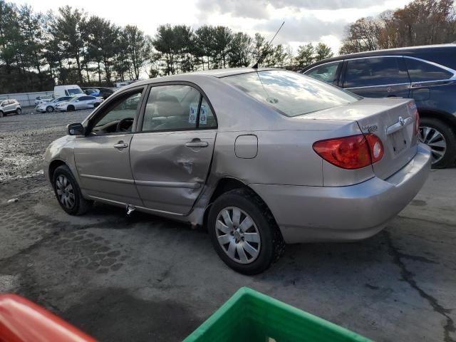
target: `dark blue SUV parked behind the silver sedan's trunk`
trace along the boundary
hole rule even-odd
[[[301,73],[366,98],[413,98],[433,167],[456,160],[456,44],[393,48],[319,61]]]

